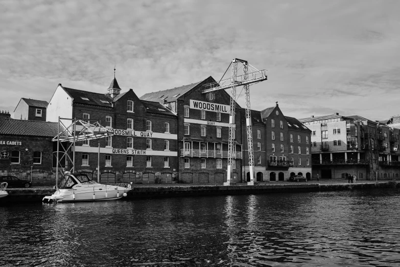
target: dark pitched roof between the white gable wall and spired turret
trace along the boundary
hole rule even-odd
[[[104,106],[104,107],[111,107],[111,102],[113,99],[110,97],[109,94],[99,94],[94,92],[82,91],[77,90],[74,88],[64,87],[65,92],[74,98],[75,103],[81,104],[88,104],[88,105],[97,105],[97,106]],[[85,100],[88,99],[88,100]],[[104,101],[104,102],[102,102]],[[106,103],[106,101],[108,103]]]

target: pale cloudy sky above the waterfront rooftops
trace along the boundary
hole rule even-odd
[[[50,101],[59,83],[107,93],[114,65],[140,97],[219,80],[240,58],[267,70],[252,109],[384,120],[400,114],[398,11],[397,0],[2,0],[0,110]]]

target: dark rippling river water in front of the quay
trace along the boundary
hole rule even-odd
[[[400,190],[0,206],[0,266],[399,266]]]

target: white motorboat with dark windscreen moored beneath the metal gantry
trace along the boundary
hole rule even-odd
[[[127,196],[131,184],[103,185],[85,173],[65,173],[57,191],[43,197],[43,202],[109,201]]]

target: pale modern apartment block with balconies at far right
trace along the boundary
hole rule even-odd
[[[361,116],[338,113],[301,119],[312,130],[313,176],[359,180],[398,179],[399,129]]]

